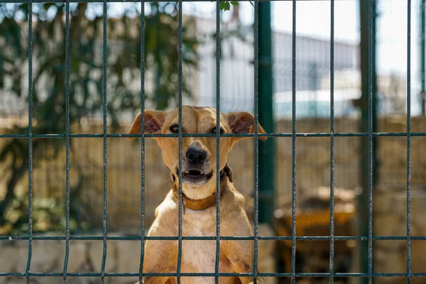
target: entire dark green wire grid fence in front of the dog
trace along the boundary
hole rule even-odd
[[[116,0],[114,0],[116,2]],[[144,13],[144,4],[146,1],[151,0],[130,0],[133,2],[141,3],[141,15]],[[165,1],[165,0],[160,0]],[[208,0],[197,0],[197,1],[208,1]],[[368,283],[372,283],[373,277],[406,277],[407,283],[411,283],[412,277],[426,277],[426,273],[412,273],[410,268],[410,243],[411,240],[426,240],[426,236],[411,236],[410,233],[410,189],[411,189],[411,153],[410,153],[410,141],[412,136],[426,136],[426,132],[417,132],[411,133],[410,125],[410,101],[411,101],[411,92],[410,92],[410,24],[411,24],[411,1],[408,1],[408,38],[407,38],[407,131],[400,133],[376,133],[373,132],[373,54],[372,48],[373,45],[373,9],[372,2],[374,0],[368,1],[368,132],[366,133],[334,133],[334,1],[330,1],[331,9],[331,48],[330,48],[330,70],[331,70],[331,80],[330,80],[330,132],[329,133],[297,133],[296,131],[296,7],[297,1],[302,0],[287,0],[293,1],[293,65],[292,65],[292,75],[293,75],[293,101],[292,101],[292,132],[291,133],[258,133],[258,53],[254,53],[254,118],[255,118],[255,130],[253,134],[186,134],[182,133],[182,0],[179,1],[179,42],[178,42],[178,53],[179,53],[179,132],[178,134],[145,134],[144,133],[144,116],[141,116],[141,135],[132,135],[132,134],[108,134],[107,133],[107,3],[112,2],[112,0],[66,0],[65,9],[66,9],[66,19],[65,19],[65,31],[66,31],[66,133],[65,134],[33,134],[33,60],[32,60],[32,43],[33,43],[33,34],[32,34],[32,9],[33,3],[44,2],[43,0],[28,0],[22,2],[21,0],[0,0],[0,3],[28,3],[28,134],[1,134],[0,138],[28,138],[28,202],[29,202],[29,233],[28,236],[0,236],[0,240],[28,240],[28,259],[26,265],[26,271],[22,273],[0,273],[0,277],[5,276],[19,276],[25,277],[26,283],[30,283],[32,276],[55,276],[62,277],[64,283],[67,283],[67,277],[84,277],[92,276],[99,277],[101,282],[104,283],[106,277],[119,276],[119,277],[138,277],[141,282],[143,276],[174,276],[177,277],[178,283],[180,283],[180,278],[183,276],[212,276],[215,278],[216,283],[219,281],[220,277],[230,277],[230,276],[249,276],[253,277],[253,283],[258,281],[258,277],[288,277],[291,278],[291,283],[295,283],[297,277],[329,277],[329,283],[334,283],[334,277],[358,277],[358,278],[367,278]],[[51,0],[50,2],[62,2],[61,0]],[[104,25],[103,25],[103,133],[99,134],[71,134],[70,133],[70,3],[74,2],[102,2],[103,3],[103,12],[104,12]],[[128,1],[126,1],[128,2]],[[259,1],[254,0],[254,50],[258,50],[258,5]],[[217,34],[219,35],[219,16],[220,16],[220,0],[216,1],[217,4]],[[144,71],[145,71],[145,62],[144,62],[144,21],[143,16],[141,16],[141,112],[145,111],[145,96],[144,96]],[[220,59],[219,59],[219,48],[220,48],[220,38],[219,36],[216,39],[217,44],[217,127],[219,127],[219,111],[220,111]],[[217,138],[217,191],[220,191],[219,186],[219,139],[221,137],[230,137],[230,136],[241,136],[241,137],[251,137],[254,143],[254,204],[255,204],[255,216],[254,216],[254,236],[244,236],[244,237],[224,237],[220,235],[220,212],[219,212],[219,197],[217,195],[217,234],[216,236],[182,236],[182,172],[179,171],[179,236],[178,237],[148,237],[145,236],[145,175],[144,175],[144,161],[145,161],[145,138],[148,137],[178,137],[179,139],[179,167],[181,167],[181,158],[182,158],[182,138],[183,137],[216,137]],[[293,209],[293,226],[292,226],[292,236],[258,236],[258,137],[291,137],[293,140],[293,180],[292,180],[292,209]],[[329,137],[331,152],[330,152],[330,178],[331,178],[331,187],[330,187],[330,234],[329,236],[296,236],[296,138],[297,137]],[[382,137],[382,136],[403,136],[407,137],[407,235],[406,236],[373,236],[373,224],[372,224],[372,209],[373,209],[373,138]],[[75,137],[87,137],[87,138],[102,138],[103,139],[103,234],[102,236],[70,236],[70,138]],[[141,236],[108,236],[107,232],[107,138],[122,138],[122,137],[141,137]],[[334,236],[334,138],[335,137],[368,137],[368,235],[367,236]],[[33,138],[65,138],[66,140],[66,231],[65,236],[33,236]],[[177,273],[143,273],[143,255],[144,255],[144,242],[147,239],[155,240],[177,240],[179,244],[179,254],[178,254],[178,268]],[[37,273],[31,272],[31,256],[33,252],[32,242],[33,240],[65,240],[65,259],[62,273]],[[102,268],[99,273],[68,273],[67,272],[67,263],[70,253],[70,241],[71,240],[89,240],[89,241],[100,241],[103,242],[103,255],[102,255]],[[135,273],[107,273],[105,272],[105,263],[107,257],[107,241],[108,240],[132,240],[141,242],[141,263],[140,269]],[[217,250],[216,250],[216,265],[214,273],[181,273],[180,272],[180,262],[182,258],[182,240],[216,240]],[[254,263],[253,263],[253,272],[252,273],[219,273],[219,250],[220,250],[220,241],[221,240],[253,240],[254,241]],[[291,261],[291,273],[258,273],[258,241],[259,240],[291,240],[292,241],[292,261]],[[315,240],[315,241],[329,241],[330,242],[330,258],[329,258],[329,273],[296,273],[295,272],[295,261],[296,261],[296,242],[303,240]],[[355,241],[367,241],[368,242],[368,272],[367,273],[334,273],[334,241],[339,240],[355,240]],[[405,240],[407,241],[407,272],[406,273],[373,273],[373,254],[372,254],[372,244],[375,240]]]

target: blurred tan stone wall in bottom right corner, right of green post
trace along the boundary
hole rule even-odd
[[[407,236],[407,192],[379,188],[373,197],[374,236]],[[411,190],[411,236],[426,236],[426,187]],[[407,241],[374,241],[373,267],[376,273],[407,273]],[[425,273],[426,241],[411,241],[411,271]],[[403,284],[400,278],[380,278],[376,283]],[[413,284],[425,283],[412,278]]]

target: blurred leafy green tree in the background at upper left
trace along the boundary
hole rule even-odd
[[[109,4],[110,5],[110,4]],[[109,9],[109,11],[115,9]],[[140,109],[141,18],[140,4],[107,20],[107,112],[111,126],[119,116]],[[173,3],[146,4],[145,70],[146,99],[150,107],[165,109],[178,98],[178,7]],[[186,20],[185,18],[182,20]],[[70,4],[70,124],[84,117],[102,114],[102,4]],[[192,22],[182,28],[182,93],[190,95],[186,67],[197,65],[197,40]],[[0,4],[0,89],[28,99],[28,4]],[[149,86],[149,75],[157,77]],[[33,4],[33,133],[65,133],[65,4]],[[13,126],[13,133],[28,133],[28,126]],[[65,147],[63,139],[34,139],[34,156],[41,145],[49,155],[34,159],[54,159]],[[7,165],[6,194],[0,199],[0,234],[28,229],[28,198],[16,194],[16,185],[28,175],[28,139],[13,138],[0,148],[0,163]],[[71,188],[71,216],[79,215],[78,192],[84,170],[78,170]],[[60,202],[53,201],[53,204]],[[55,213],[62,207],[50,206]],[[65,210],[65,209],[63,209]],[[52,215],[50,214],[50,215]],[[54,214],[53,214],[54,215]],[[44,215],[43,215],[44,216]],[[37,214],[34,215],[37,223]],[[53,222],[60,229],[64,220]],[[84,222],[77,223],[84,224]],[[73,223],[72,223],[73,224]],[[72,229],[82,229],[76,225]],[[35,226],[37,228],[37,226]]]

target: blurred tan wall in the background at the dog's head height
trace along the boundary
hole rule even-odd
[[[116,133],[126,133],[129,126],[123,126]],[[426,131],[426,120],[413,118],[413,131]],[[337,119],[335,132],[353,133],[359,131],[356,119]],[[303,119],[297,121],[296,130],[300,133],[327,133],[329,120]],[[276,132],[291,133],[291,121],[278,121]],[[403,117],[380,119],[378,131],[404,132],[406,121]],[[1,131],[0,132],[4,132]],[[89,129],[73,129],[72,133],[102,133],[102,126]],[[291,197],[292,182],[292,138],[274,138],[276,143],[275,185],[277,196]],[[335,186],[355,188],[360,186],[359,137],[336,137],[334,146]],[[65,142],[62,140],[62,142]],[[406,184],[406,138],[379,137],[378,180],[381,187],[401,187]],[[5,143],[2,139],[0,143]],[[296,187],[297,196],[312,189],[329,186],[330,182],[330,139],[329,137],[297,137],[296,139]],[[426,138],[412,138],[412,182],[413,186],[426,183]],[[0,145],[1,146],[1,145]],[[65,197],[65,151],[62,148],[58,158],[43,160],[49,148],[41,148],[34,158],[33,192],[35,199],[43,197]],[[168,169],[161,160],[160,149],[152,138],[146,139],[145,192],[147,226],[151,224],[155,207],[163,200],[170,189]],[[241,158],[244,157],[244,158]],[[90,227],[102,228],[102,165],[101,138],[71,139],[71,187],[77,185],[77,177],[84,178],[82,197],[76,205],[80,216],[87,217]],[[141,146],[140,139],[129,141],[126,138],[108,138],[108,226],[110,231],[140,230],[141,208]],[[239,142],[229,154],[229,163],[234,170],[236,187],[246,195],[253,193],[253,139]],[[7,166],[0,165],[1,167]],[[262,178],[260,176],[259,178]],[[6,179],[0,181],[0,199],[4,194]],[[26,195],[28,180],[21,181],[18,192]],[[43,228],[40,228],[43,229]]]

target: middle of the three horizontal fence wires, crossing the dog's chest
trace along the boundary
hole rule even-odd
[[[145,236],[146,240],[176,241],[178,236]],[[212,241],[216,236],[182,236],[182,240],[187,241]],[[220,240],[226,241],[253,241],[254,236],[219,236]],[[258,236],[263,241],[291,241],[292,236]],[[329,241],[330,236],[296,236],[297,241]],[[334,236],[335,241],[367,241],[367,236]],[[413,241],[426,241],[426,236],[411,236]],[[0,236],[0,241],[20,241],[28,240],[28,236]],[[33,240],[39,241],[65,241],[66,236],[33,236]],[[70,236],[70,240],[75,241],[102,241],[102,236]],[[140,241],[141,236],[108,236],[111,241]],[[407,241],[407,236],[373,236],[373,241]]]

